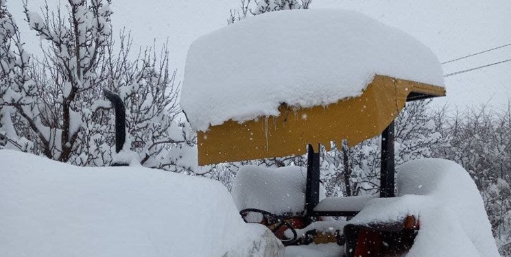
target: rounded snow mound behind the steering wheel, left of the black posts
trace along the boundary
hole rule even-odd
[[[233,182],[233,198],[238,210],[256,208],[275,215],[305,210],[307,167],[277,169],[243,166]],[[324,188],[320,186],[320,197]]]

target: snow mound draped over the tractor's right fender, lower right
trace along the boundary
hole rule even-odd
[[[399,167],[399,197],[373,199],[350,223],[420,219],[407,257],[499,256],[477,186],[455,162],[423,159]]]

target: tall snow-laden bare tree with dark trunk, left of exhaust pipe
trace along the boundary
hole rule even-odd
[[[83,110],[80,94],[91,90],[105,78],[102,73],[104,49],[110,38],[108,3],[99,0],[69,0],[70,14],[56,14],[45,5],[43,17],[30,12],[25,1],[25,14],[31,29],[45,40],[44,58],[36,69],[29,69],[29,57],[17,28],[11,36],[17,51],[18,65],[11,69],[21,75],[10,83],[16,98],[4,105],[12,106],[37,135],[40,150],[48,158],[67,162],[77,147]],[[3,71],[4,73],[8,71]],[[51,76],[51,84],[48,75]],[[40,78],[40,79],[36,79]]]

